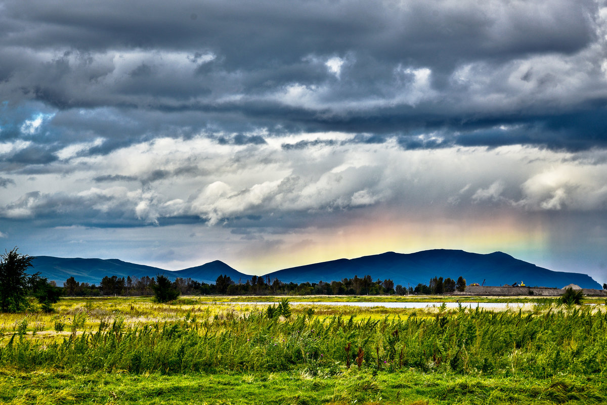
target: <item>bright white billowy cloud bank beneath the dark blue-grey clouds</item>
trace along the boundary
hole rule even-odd
[[[328,213],[339,218],[379,205],[396,211],[405,204],[423,211],[430,204],[466,209],[472,202],[470,207],[490,210],[498,203],[528,212],[600,211],[607,202],[604,152],[405,150],[395,139],[344,142],[352,138],[327,134],[333,144],[316,142],[298,149],[284,148],[291,136],[271,144],[222,144],[205,136],[154,139],[103,157],[80,156],[77,164],[86,172],[47,175],[64,191],[29,191],[10,201],[5,196],[0,215],[104,226],[190,223],[197,218],[210,226],[267,228],[285,218],[290,218],[290,227],[306,227]],[[477,170],[479,165],[485,169]],[[108,172],[117,174],[103,174]],[[83,176],[98,186],[87,186]],[[37,180],[29,187],[41,184]],[[250,218],[256,220],[251,223]]]

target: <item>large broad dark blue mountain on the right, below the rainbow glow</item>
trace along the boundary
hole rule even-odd
[[[520,283],[527,286],[558,287],[574,283],[583,288],[600,289],[599,283],[582,273],[554,272],[535,264],[515,259],[503,252],[487,255],[463,250],[435,249],[417,253],[387,252],[356,259],[338,259],[307,266],[291,267],[268,274],[283,283],[310,283],[341,281],[371,275],[375,279],[392,279],[394,284],[415,287],[428,284],[434,276],[457,279],[463,276],[467,283],[483,283],[486,286],[503,286]]]

